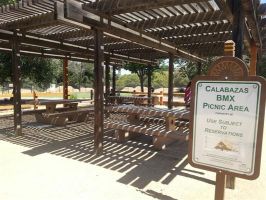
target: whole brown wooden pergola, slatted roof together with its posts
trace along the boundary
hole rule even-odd
[[[264,8],[258,0],[20,0],[0,7],[0,51],[12,53],[16,135],[22,134],[20,55],[64,59],[65,75],[67,60],[94,63],[95,150],[101,153],[104,62],[108,77],[109,65],[169,59],[171,108],[175,57],[201,63],[223,55],[224,42],[233,40],[236,56],[245,50],[256,74],[265,43],[258,10]]]

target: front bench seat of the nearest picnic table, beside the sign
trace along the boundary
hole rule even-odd
[[[157,150],[164,149],[167,144],[176,140],[188,140],[189,129],[168,131],[164,126],[154,125],[145,126],[144,124],[133,125],[127,122],[105,121],[105,128],[115,129],[115,137],[119,142],[123,142],[126,134],[130,137],[139,134],[150,135],[153,137],[153,145]]]

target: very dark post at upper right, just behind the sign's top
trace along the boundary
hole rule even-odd
[[[241,0],[228,1],[233,14],[233,32],[232,38],[235,42],[237,58],[242,59],[243,56],[243,41],[244,41],[244,28],[245,28],[245,16],[243,13],[243,7]]]

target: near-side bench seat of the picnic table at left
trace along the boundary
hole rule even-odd
[[[83,110],[72,110],[55,113],[43,113],[42,117],[46,123],[57,126],[65,126],[69,121],[85,122],[94,114],[94,108]]]

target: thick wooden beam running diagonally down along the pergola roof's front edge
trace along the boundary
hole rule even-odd
[[[167,53],[172,53],[175,56],[181,56],[183,58],[204,61],[203,59],[192,55],[184,50],[177,49],[176,46],[168,41],[156,38],[151,34],[144,33],[138,29],[134,29],[126,24],[121,24],[116,20],[86,11],[82,8],[82,4],[73,1],[66,1],[66,13],[64,4],[57,2],[57,14],[58,19],[68,22],[70,24],[80,24],[84,26],[86,24],[101,29],[105,34],[113,35],[114,37],[120,37],[122,40],[128,40],[136,42],[142,46],[157,49]],[[67,16],[67,18],[65,18]]]

